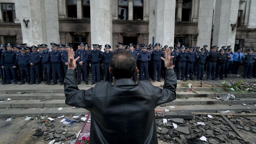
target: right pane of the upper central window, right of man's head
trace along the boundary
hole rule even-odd
[[[143,20],[143,0],[133,0],[133,20]]]

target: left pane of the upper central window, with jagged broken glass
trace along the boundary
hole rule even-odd
[[[128,0],[118,0],[118,19],[128,19]]]

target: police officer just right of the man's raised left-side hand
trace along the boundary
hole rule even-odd
[[[84,81],[88,85],[88,75],[87,75],[87,61],[89,60],[89,55],[86,50],[84,50],[84,43],[80,43],[80,50],[76,51],[75,58],[80,57],[77,60],[77,84],[81,84],[81,73],[83,73]]]

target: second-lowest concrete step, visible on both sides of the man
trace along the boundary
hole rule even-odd
[[[188,99],[177,98],[173,102],[163,104],[166,105],[235,105],[235,104],[253,104],[256,103],[255,98],[244,97],[235,100],[217,100],[209,97],[195,98],[191,97]],[[11,100],[1,101],[0,108],[48,108],[48,107],[71,107],[65,104],[65,99],[34,99],[34,100]]]

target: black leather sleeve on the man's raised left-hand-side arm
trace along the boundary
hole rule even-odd
[[[76,71],[68,69],[64,79],[65,103],[70,106],[91,110],[93,87],[88,90],[79,90],[76,84]]]

